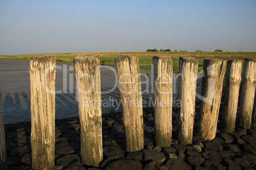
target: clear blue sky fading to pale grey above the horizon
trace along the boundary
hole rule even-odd
[[[1,0],[0,55],[256,51],[255,0]]]

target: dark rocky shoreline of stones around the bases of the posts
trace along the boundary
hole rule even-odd
[[[103,115],[104,159],[97,168],[81,163],[78,117],[56,120],[53,169],[256,169],[256,128],[237,128],[230,134],[217,130],[213,141],[195,133],[193,144],[182,146],[178,145],[177,112],[173,111],[171,147],[153,145],[153,108],[143,108],[145,147],[131,153],[124,151],[121,112]],[[4,128],[9,169],[31,169],[31,122]]]

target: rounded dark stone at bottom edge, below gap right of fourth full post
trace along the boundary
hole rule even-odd
[[[168,169],[170,170],[190,170],[191,167],[186,163],[184,162],[184,160],[182,159],[169,159],[167,162],[166,162],[166,166],[168,167]]]

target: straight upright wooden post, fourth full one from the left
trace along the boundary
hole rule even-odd
[[[173,60],[168,56],[153,57],[155,145],[171,147],[173,110]]]

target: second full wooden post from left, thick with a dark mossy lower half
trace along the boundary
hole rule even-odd
[[[82,163],[99,167],[103,160],[99,57],[76,56],[74,62],[81,124]]]

